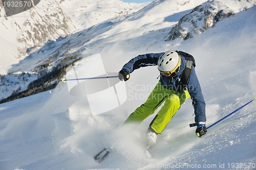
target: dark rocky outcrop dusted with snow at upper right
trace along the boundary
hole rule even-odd
[[[223,18],[234,15],[254,6],[256,1],[218,1],[211,0],[196,7],[192,12],[183,16],[173,27],[167,40],[181,38],[186,40],[214,27]]]

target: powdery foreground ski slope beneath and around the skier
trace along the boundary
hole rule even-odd
[[[113,44],[104,64],[117,72],[135,57],[131,54],[169,49],[192,54],[209,126],[256,97],[255,28],[254,6],[186,41],[156,40],[148,45],[148,39],[142,38],[145,46],[133,46],[128,32],[121,42],[126,45]],[[125,82],[127,101],[94,117],[87,100],[71,96],[62,82],[51,91],[1,104],[0,169],[255,169],[255,102],[198,138],[195,128],[189,128],[194,110],[191,100],[186,101],[158,135],[152,159],[147,159],[141,143],[155,115],[136,127],[120,126],[146,100],[158,75],[152,66],[134,71]],[[114,152],[98,164],[92,157],[105,145]]]

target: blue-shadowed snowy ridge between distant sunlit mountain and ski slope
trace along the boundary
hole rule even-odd
[[[8,69],[10,75],[3,76],[3,79],[9,79],[9,83],[5,85],[9,86],[1,88],[0,99],[5,99],[2,102],[6,102],[34,94],[42,89],[51,89],[56,86],[56,81],[63,76],[65,67],[72,62],[95,53],[114,53],[111,50],[115,49],[113,45],[120,45],[121,47],[125,45],[123,40],[125,43],[133,44],[133,46],[152,48],[157,41],[163,41],[166,32],[168,33],[183,15],[203,2],[205,0],[190,1],[189,3],[186,1],[156,1],[131,15],[123,16],[120,14],[119,17],[106,19],[70,36],[59,37],[56,41],[48,41],[44,45],[34,46],[29,49],[30,55],[28,57],[19,59],[17,64],[12,64],[12,67]],[[176,8],[162,10],[165,9],[165,6],[176,6]],[[177,11],[179,11],[178,14]],[[87,15],[82,20],[88,20]],[[91,20],[95,22],[93,19]],[[152,37],[154,38],[152,39]],[[148,44],[144,43],[145,41]],[[37,50],[38,48],[39,50]],[[135,54],[132,53],[131,55]],[[32,75],[26,82],[12,79],[13,76],[22,79],[23,76],[20,73]],[[28,89],[31,86],[34,88]],[[10,96],[10,94],[14,95]]]

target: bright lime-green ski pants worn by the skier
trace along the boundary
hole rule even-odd
[[[180,109],[180,106],[190,98],[187,90],[175,91],[164,88],[159,82],[148,96],[146,102],[138,107],[125,120],[126,123],[141,123],[145,118],[153,114],[165,101],[150,124],[150,128],[156,133],[162,133],[173,116]]]

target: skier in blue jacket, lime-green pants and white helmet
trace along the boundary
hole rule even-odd
[[[194,57],[181,51],[139,55],[122,67],[119,79],[127,81],[135,69],[150,65],[158,66],[160,81],[146,102],[131,113],[124,124],[141,123],[164,103],[146,133],[146,149],[150,150],[156,143],[157,135],[162,133],[180,106],[191,97],[197,125],[196,135],[201,137],[206,134],[205,101],[195,72]]]

